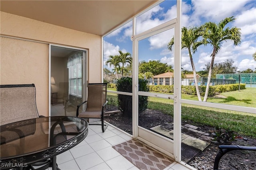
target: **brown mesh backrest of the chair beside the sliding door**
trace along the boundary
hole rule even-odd
[[[89,83],[86,111],[101,111],[107,99],[107,83]]]

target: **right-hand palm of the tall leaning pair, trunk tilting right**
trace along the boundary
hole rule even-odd
[[[233,22],[236,20],[234,16],[225,18],[224,20],[221,20],[220,23],[216,24],[213,22],[207,22],[205,23],[204,26],[204,31],[202,32],[202,41],[200,41],[196,45],[208,45],[210,44],[212,46],[212,60],[209,68],[209,73],[208,73],[208,80],[207,80],[207,85],[206,85],[206,90],[205,90],[205,95],[204,95],[204,102],[206,102],[207,97],[208,97],[208,92],[209,92],[209,86],[210,86],[210,80],[212,76],[212,68],[214,65],[214,59],[218,52],[220,51],[220,48],[222,47],[222,44],[224,41],[230,39],[234,42],[234,45],[239,45],[241,43],[241,32],[240,28],[237,27],[226,27],[226,25],[230,22]]]

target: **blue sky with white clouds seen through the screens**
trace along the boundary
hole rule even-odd
[[[230,27],[241,29],[241,44],[234,47],[232,41],[223,43],[214,63],[232,59],[238,70],[255,70],[256,61],[252,54],[256,52],[256,1],[255,0],[188,0],[182,1],[182,26],[198,26],[207,21],[219,23],[226,17],[237,18]],[[176,18],[176,0],[166,0],[145,12],[136,19],[136,33]],[[139,61],[160,60],[174,66],[173,52],[167,50],[167,44],[174,34],[170,29],[139,42]],[[132,53],[132,21],[104,37],[104,63],[109,55],[118,55],[118,50]],[[196,71],[203,70],[210,62],[212,47],[200,46],[193,54]],[[105,66],[107,67],[107,66]],[[108,67],[109,68],[109,67]],[[192,70],[188,50],[182,50],[182,68]],[[112,68],[109,68],[110,70]]]

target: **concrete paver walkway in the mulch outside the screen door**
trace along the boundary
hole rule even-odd
[[[181,127],[182,161],[184,162],[189,162],[194,156],[202,152],[213,139],[209,133],[198,131],[198,128],[190,124]],[[164,123],[152,127],[150,130],[173,140],[173,123]]]

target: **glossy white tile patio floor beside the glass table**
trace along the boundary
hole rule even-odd
[[[61,170],[138,170],[124,158],[113,145],[132,139],[128,134],[108,126],[102,133],[101,126],[89,125],[88,136],[76,147],[57,156]],[[174,162],[165,170],[189,170]]]

